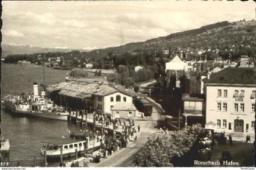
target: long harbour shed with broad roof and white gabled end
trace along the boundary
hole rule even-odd
[[[63,107],[112,113],[111,108],[115,104],[132,103],[135,91],[105,79],[68,79],[66,82],[48,85],[46,96]]]

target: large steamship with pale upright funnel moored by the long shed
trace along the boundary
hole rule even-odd
[[[66,121],[68,112],[65,112],[63,107],[55,105],[51,99],[46,98],[45,92],[42,90],[38,93],[38,84],[33,84],[33,94],[29,97],[25,95],[12,96],[7,95],[2,100],[2,104],[7,112],[15,116],[21,117],[39,117],[46,119],[55,119]]]

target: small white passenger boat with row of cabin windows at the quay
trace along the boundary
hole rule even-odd
[[[102,138],[101,138],[102,137]],[[46,155],[47,158],[60,158],[62,153],[63,158],[71,158],[77,154],[82,154],[88,151],[96,151],[104,143],[104,135],[97,136],[96,134],[91,134],[87,136],[85,140],[78,140],[67,143],[43,143],[43,148],[41,149],[41,155]]]

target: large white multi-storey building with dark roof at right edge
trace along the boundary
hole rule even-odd
[[[206,84],[206,124],[216,132],[254,133],[254,70],[226,68],[213,74]]]

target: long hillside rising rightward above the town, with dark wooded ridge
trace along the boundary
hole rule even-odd
[[[93,55],[97,53],[115,52],[123,54],[124,52],[134,52],[144,49],[162,50],[169,49],[174,51],[177,46],[180,48],[230,48],[233,45],[240,46],[241,44],[250,44],[256,46],[256,21],[238,21],[229,23],[222,21],[207,26],[202,26],[199,29],[186,30],[167,35],[166,37],[154,38],[144,42],[129,43],[123,46],[96,49],[89,52]]]

